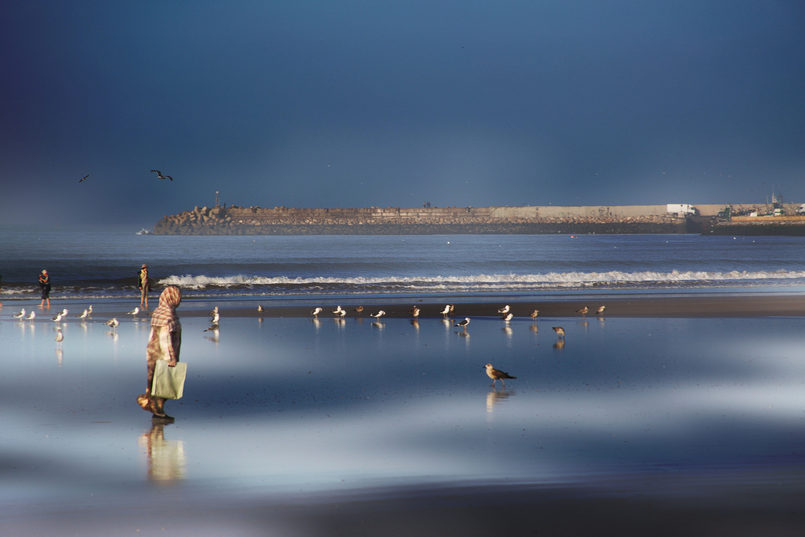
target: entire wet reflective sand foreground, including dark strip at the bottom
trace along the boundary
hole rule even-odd
[[[134,402],[147,321],[107,318],[0,323],[7,535],[805,527],[800,317],[188,315],[175,423]]]

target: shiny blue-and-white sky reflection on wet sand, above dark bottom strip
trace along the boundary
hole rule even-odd
[[[2,456],[30,463],[16,485],[54,493],[149,476],[313,490],[803,463],[799,319],[568,323],[560,353],[530,320],[506,333],[473,319],[467,335],[358,321],[226,318],[212,345],[206,319],[184,320],[185,397],[159,430],[134,403],[147,324],[111,339],[102,321],[63,323],[59,367],[52,329],[2,323]],[[518,379],[493,390],[489,362]]]

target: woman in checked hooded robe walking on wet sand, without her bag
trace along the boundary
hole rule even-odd
[[[165,414],[165,399],[151,395],[154,384],[154,370],[157,360],[167,361],[168,367],[175,367],[179,361],[179,350],[182,346],[182,324],[176,315],[176,307],[182,301],[182,290],[169,285],[159,295],[159,306],[151,316],[151,335],[148,337],[146,357],[148,361],[148,384],[146,393],[137,396],[137,403],[142,410],[150,411],[160,418],[170,418]]]

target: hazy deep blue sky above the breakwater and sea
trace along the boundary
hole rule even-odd
[[[216,190],[262,207],[715,204],[779,184],[805,202],[799,1],[0,14],[0,223],[152,225]]]

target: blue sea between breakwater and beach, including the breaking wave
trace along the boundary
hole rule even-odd
[[[5,300],[134,298],[142,262],[185,296],[533,294],[805,288],[805,238],[699,235],[187,237],[134,229],[4,229]],[[797,289],[799,287],[800,289]]]

